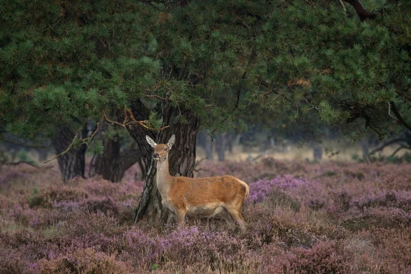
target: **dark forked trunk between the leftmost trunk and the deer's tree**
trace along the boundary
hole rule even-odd
[[[140,161],[141,155],[140,151],[134,148],[121,151],[119,138],[104,138],[101,133],[105,132],[107,127],[106,123],[100,126],[100,133],[97,138],[103,141],[104,152],[92,156],[88,177],[101,175],[103,179],[115,183],[123,179],[125,171],[130,166]],[[144,170],[142,172],[144,173]]]

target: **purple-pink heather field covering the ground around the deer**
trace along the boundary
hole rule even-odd
[[[142,192],[60,182],[56,166],[0,167],[0,273],[410,273],[411,165],[201,162],[247,182],[247,231],[224,221],[132,223]]]

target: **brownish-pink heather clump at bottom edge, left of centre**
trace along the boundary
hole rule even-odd
[[[107,273],[129,274],[132,269],[125,262],[116,260],[115,254],[106,254],[95,249],[75,249],[54,259],[39,261],[41,273]]]

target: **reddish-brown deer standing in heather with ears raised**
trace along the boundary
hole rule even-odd
[[[169,152],[175,142],[175,135],[166,144],[157,144],[146,135],[153,147],[156,161],[156,184],[162,198],[162,206],[175,217],[177,225],[184,225],[186,216],[219,217],[230,228],[236,223],[245,230],[241,207],[249,195],[249,186],[231,175],[220,177],[190,178],[171,176],[169,173]]]

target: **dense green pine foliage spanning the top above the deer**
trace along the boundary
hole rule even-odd
[[[352,16],[338,1],[190,1],[166,12],[3,0],[0,127],[47,135],[144,98],[158,129],[162,99],[146,97],[158,95],[209,129],[319,120],[384,135],[399,123],[389,102],[411,114],[411,4],[371,1],[384,16],[365,22],[345,4]]]

